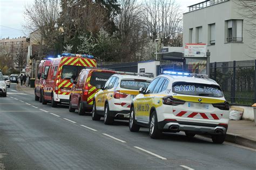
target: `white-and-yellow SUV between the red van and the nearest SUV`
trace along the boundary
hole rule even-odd
[[[151,81],[152,78],[139,75],[112,75],[93,98],[92,120],[104,116],[104,123],[112,124],[114,119],[129,119],[132,99],[139,94],[139,88],[146,88]]]

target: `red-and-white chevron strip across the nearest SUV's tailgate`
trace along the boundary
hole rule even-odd
[[[209,114],[209,113],[203,113],[203,112],[176,111],[176,110],[173,110],[173,115],[179,116],[179,117],[212,119],[212,120],[219,120],[223,116],[223,114],[214,114],[214,113]]]

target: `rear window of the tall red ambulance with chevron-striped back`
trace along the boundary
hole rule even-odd
[[[62,67],[62,74],[60,79],[71,79],[71,77],[75,80],[80,70],[84,69],[84,66],[70,66],[64,65]]]

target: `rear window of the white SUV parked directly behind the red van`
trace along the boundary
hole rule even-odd
[[[139,90],[141,87],[146,88],[147,85],[149,85],[150,82],[147,82],[145,80],[138,81],[138,80],[122,80],[120,87],[124,89],[130,89],[130,90]]]

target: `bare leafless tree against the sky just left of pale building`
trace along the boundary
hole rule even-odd
[[[175,0],[144,0],[144,22],[149,36],[161,39],[165,46],[181,33],[182,14]]]

